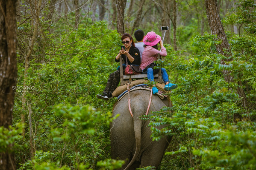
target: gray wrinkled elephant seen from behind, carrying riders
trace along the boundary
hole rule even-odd
[[[159,141],[152,141],[151,130],[147,126],[149,120],[140,119],[147,111],[150,99],[149,91],[132,91],[130,92],[130,99],[133,118],[129,113],[128,94],[113,108],[112,116],[117,114],[120,116],[113,120],[110,125],[112,159],[126,161],[121,170],[135,170],[138,167],[147,166],[158,168],[171,137],[165,136]],[[163,106],[168,106],[168,100],[166,98],[161,100],[153,94],[148,114],[151,111],[160,111]]]

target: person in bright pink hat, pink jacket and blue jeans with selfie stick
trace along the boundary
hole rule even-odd
[[[142,53],[141,59],[141,70],[143,71],[142,74],[147,74],[147,79],[150,81],[154,81],[154,74],[158,73],[159,69],[153,69],[156,64],[154,61],[157,60],[157,54],[159,53],[160,56],[167,56],[166,49],[162,43],[161,37],[157,35],[154,31],[148,32],[147,35],[143,39],[144,42],[144,51]],[[158,43],[162,48],[162,51],[158,50]],[[161,68],[162,78],[165,82],[165,90],[172,90],[177,88],[177,84],[172,84],[169,81],[168,74],[165,68]],[[156,86],[152,88],[153,94],[158,92]]]

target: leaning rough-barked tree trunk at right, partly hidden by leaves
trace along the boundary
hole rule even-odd
[[[218,51],[218,54],[224,55],[226,57],[229,57],[228,59],[222,59],[221,64],[226,65],[226,62],[232,61],[232,55],[230,50],[230,45],[227,41],[227,36],[225,34],[224,28],[221,23],[221,17],[219,15],[217,0],[205,0],[206,3],[206,14],[208,18],[209,27],[211,29],[211,33],[218,36],[218,39],[221,40],[221,44],[216,44],[216,49]],[[224,79],[227,82],[232,82],[233,77],[230,75],[231,71],[224,70]],[[238,80],[238,87],[237,87],[237,93],[241,97],[242,105],[245,110],[247,110],[247,99],[244,94],[244,90],[242,88],[241,81]],[[240,115],[234,115],[238,118],[241,117]]]

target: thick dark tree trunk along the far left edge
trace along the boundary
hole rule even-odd
[[[12,125],[17,79],[15,18],[16,0],[0,0],[0,127],[5,128]],[[1,170],[16,169],[12,146],[0,153]]]

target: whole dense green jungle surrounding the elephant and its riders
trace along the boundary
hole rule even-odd
[[[0,170],[120,168],[109,129],[117,99],[96,94],[119,65],[121,34],[163,37],[161,26],[170,28],[159,64],[178,87],[168,94],[172,107],[141,117],[150,119],[152,140],[172,136],[161,170],[256,170],[255,0],[0,2]],[[6,28],[16,27],[17,75],[7,100],[2,51],[10,43],[1,35],[12,11],[15,26]]]

